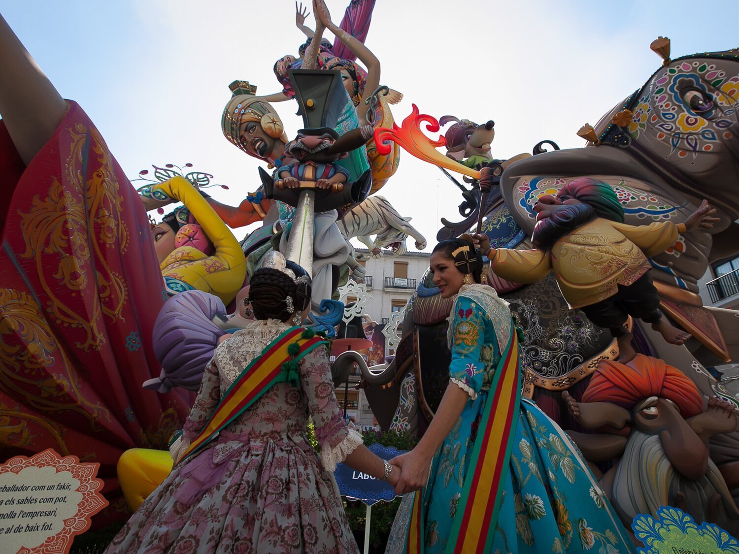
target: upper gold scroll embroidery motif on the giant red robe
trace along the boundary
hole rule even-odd
[[[96,161],[98,166],[88,168],[90,178],[84,182],[82,161],[88,132],[92,152],[89,163]],[[98,350],[105,343],[101,315],[111,321],[122,318],[128,294],[126,285],[108,267],[105,256],[106,250],[112,248],[125,253],[129,233],[120,220],[123,198],[118,194],[120,185],[102,137],[82,123],[75,124],[69,133],[72,145],[65,164],[67,188],[52,177],[48,196],[45,199],[34,196],[29,213],[19,214],[26,245],[20,257],[35,261],[41,287],[51,299],[45,308],[56,322],[72,329],[84,329],[84,338],[75,342],[75,346],[87,352],[90,348]],[[94,268],[90,266],[91,249],[95,252]],[[44,272],[50,263],[56,263],[56,271],[52,273],[55,282],[47,281],[49,273]],[[91,270],[95,275],[89,274]],[[97,285],[91,312],[74,312],[61,300],[64,295],[56,294],[59,285],[77,293],[88,287],[90,281]]]

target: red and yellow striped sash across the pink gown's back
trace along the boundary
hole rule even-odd
[[[205,446],[222,428],[259,400],[271,386],[287,380],[282,370],[283,363],[299,360],[316,346],[326,343],[324,338],[314,336],[312,333],[310,338],[304,338],[304,330],[302,327],[287,329],[241,372],[221,398],[205,428],[192,440],[180,463]],[[290,355],[287,347],[294,343],[299,344],[300,351],[296,355]]]

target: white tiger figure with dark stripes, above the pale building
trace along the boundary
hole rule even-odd
[[[375,195],[352,208],[336,223],[347,241],[356,237],[369,248],[373,257],[379,258],[382,256],[382,248],[392,250],[393,256],[406,253],[406,239],[409,235],[415,239],[418,250],[426,247],[426,239],[409,225],[410,220],[411,218],[404,218],[395,211],[384,196]],[[375,235],[374,240],[372,235]]]

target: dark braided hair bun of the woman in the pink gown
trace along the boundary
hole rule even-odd
[[[256,319],[287,321],[299,308],[297,295],[295,281],[286,273],[271,267],[256,270],[249,281],[249,301]],[[290,304],[293,304],[293,310],[287,309],[288,296],[292,298]]]

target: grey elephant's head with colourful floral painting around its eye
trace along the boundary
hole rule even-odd
[[[706,198],[739,218],[739,49],[668,60],[596,133],[693,204]]]

